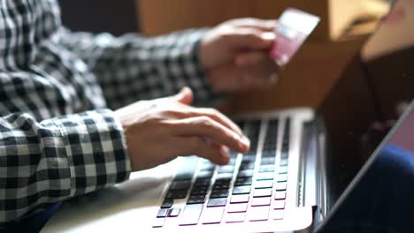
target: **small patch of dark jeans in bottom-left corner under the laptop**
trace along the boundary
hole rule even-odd
[[[46,210],[37,213],[27,219],[23,219],[19,222],[12,223],[5,229],[0,229],[0,233],[11,232],[11,233],[28,233],[28,232],[39,232],[42,227],[48,222],[52,214],[58,211],[61,203],[57,203]]]

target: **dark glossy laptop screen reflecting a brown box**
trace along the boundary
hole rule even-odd
[[[414,1],[395,3],[318,108],[328,139],[328,207],[414,98],[413,12]]]

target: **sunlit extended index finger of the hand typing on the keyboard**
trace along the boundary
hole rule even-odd
[[[165,123],[170,124],[173,136],[197,136],[203,139],[211,139],[214,143],[241,153],[245,153],[249,149],[249,139],[244,136],[241,137],[236,132],[229,130],[226,126],[219,124],[208,116],[170,120]]]

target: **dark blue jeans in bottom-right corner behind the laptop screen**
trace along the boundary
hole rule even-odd
[[[384,147],[320,232],[414,232],[414,154]]]

